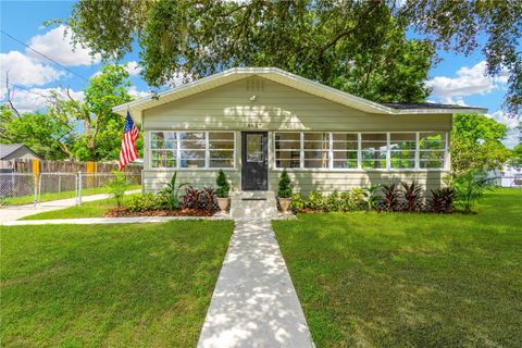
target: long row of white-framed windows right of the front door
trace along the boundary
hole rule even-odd
[[[283,167],[277,167],[277,159],[275,158],[275,134],[276,133],[299,133],[300,134],[300,165],[299,167],[287,167],[287,171],[291,172],[440,172],[450,170],[450,153],[449,153],[449,132],[448,130],[394,130],[394,132],[378,132],[378,130],[368,130],[368,132],[326,132],[326,130],[274,130],[272,148],[274,150],[274,157],[272,161],[273,171],[281,172]],[[328,149],[328,167],[304,167],[304,133],[330,133],[330,149]],[[391,167],[391,134],[397,133],[409,133],[415,135],[415,164],[414,167],[405,167],[405,169],[393,169]],[[445,149],[444,149],[444,159],[443,166],[440,167],[420,167],[421,163],[421,149],[420,149],[420,134],[421,133],[439,133],[445,136]],[[334,147],[333,147],[333,135],[334,134],[357,134],[358,147],[357,147],[357,169],[348,167],[334,167]],[[363,169],[362,167],[362,135],[363,134],[386,134],[386,167],[381,169]]]

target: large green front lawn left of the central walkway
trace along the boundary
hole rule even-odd
[[[2,347],[195,347],[232,231],[2,227]]]

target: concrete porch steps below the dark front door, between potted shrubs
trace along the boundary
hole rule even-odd
[[[231,197],[233,219],[259,219],[277,216],[277,202],[272,191],[239,191]]]

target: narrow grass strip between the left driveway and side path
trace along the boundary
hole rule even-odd
[[[127,202],[130,198],[138,196],[126,195],[123,198],[123,202]],[[38,214],[22,217],[20,220],[48,220],[48,219],[75,219],[75,217],[103,217],[103,214],[110,210],[116,208],[116,200],[114,198],[100,199],[90,202],[84,202],[82,206],[70,207],[60,210],[45,211]]]

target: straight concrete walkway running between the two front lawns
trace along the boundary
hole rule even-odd
[[[269,219],[236,221],[198,347],[313,347]]]

